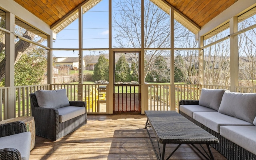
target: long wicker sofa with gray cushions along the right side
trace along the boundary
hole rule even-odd
[[[256,94],[202,89],[199,100],[181,100],[179,113],[219,139],[229,160],[256,160]]]

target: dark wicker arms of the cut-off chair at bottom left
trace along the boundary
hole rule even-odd
[[[6,124],[0,124],[0,137],[11,136],[26,132],[26,125],[24,122],[16,121]],[[0,149],[0,160],[21,160],[20,152],[16,148]]]

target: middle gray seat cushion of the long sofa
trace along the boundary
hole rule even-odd
[[[193,118],[217,133],[220,133],[220,126],[253,125],[252,123],[219,112],[194,112]]]

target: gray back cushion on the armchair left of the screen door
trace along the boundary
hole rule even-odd
[[[66,89],[38,90],[35,92],[38,106],[44,108],[60,108],[69,106]]]

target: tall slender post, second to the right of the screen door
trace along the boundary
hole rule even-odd
[[[171,110],[176,110],[175,106],[175,84],[174,84],[174,10],[170,9],[170,85],[171,85],[171,95],[170,95],[170,104]]]

